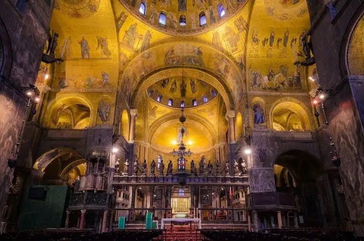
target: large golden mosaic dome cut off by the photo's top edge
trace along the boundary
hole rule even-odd
[[[216,0],[122,1],[130,13],[149,26],[168,34],[200,34],[225,23],[247,2]],[[239,23],[244,25],[247,23]]]

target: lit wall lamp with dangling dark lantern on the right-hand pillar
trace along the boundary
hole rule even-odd
[[[324,105],[323,105],[323,102],[327,98],[327,96],[329,95],[329,92],[330,92],[330,90],[324,90],[322,88],[318,88],[312,103],[313,103],[313,105],[315,107],[315,116],[317,118],[319,116],[319,113],[316,110],[316,105],[321,103],[322,113],[323,113],[323,117],[325,119],[325,124],[327,126],[328,135],[329,135],[329,141],[330,141],[329,145],[330,145],[330,148],[331,148],[330,153],[332,155],[331,162],[335,167],[339,167],[341,165],[341,158],[338,156],[337,149],[335,147],[335,144],[332,141],[332,135],[331,135],[330,127],[328,125],[329,123],[328,123],[325,108],[324,108]]]

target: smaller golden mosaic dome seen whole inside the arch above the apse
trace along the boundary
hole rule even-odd
[[[170,107],[195,107],[217,96],[218,91],[203,80],[173,76],[159,80],[147,88],[153,100]]]

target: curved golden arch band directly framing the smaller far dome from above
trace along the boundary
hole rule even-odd
[[[223,97],[224,102],[226,104],[226,108],[230,110],[235,110],[234,96],[230,91],[225,80],[210,70],[193,66],[162,67],[155,69],[154,71],[141,77],[132,92],[130,98],[130,108],[131,109],[136,108],[136,105],[139,102],[141,94],[143,94],[150,85],[163,78],[177,76],[177,75],[184,75],[186,77],[201,79],[206,83],[212,85],[219,91],[219,93]]]

